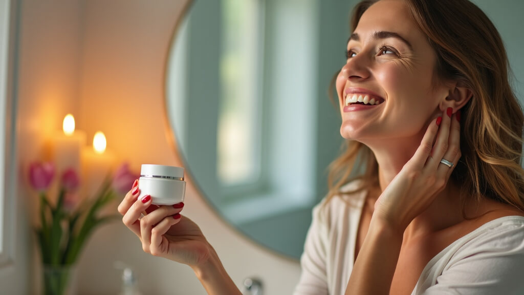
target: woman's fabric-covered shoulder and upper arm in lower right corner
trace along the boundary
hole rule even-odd
[[[462,286],[464,293],[476,294],[473,289],[482,286],[482,294],[514,294],[503,290],[520,284],[522,270],[524,217],[507,215],[489,220],[433,257],[413,294],[432,286],[433,291]]]

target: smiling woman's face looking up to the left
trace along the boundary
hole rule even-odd
[[[336,80],[342,136],[365,144],[422,136],[448,94],[432,84],[435,61],[402,0],[369,7],[348,41]],[[355,103],[359,96],[364,102]]]

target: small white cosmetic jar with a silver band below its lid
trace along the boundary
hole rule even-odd
[[[138,182],[142,199],[150,195],[152,204],[174,205],[184,201],[184,168],[165,165],[143,164]]]

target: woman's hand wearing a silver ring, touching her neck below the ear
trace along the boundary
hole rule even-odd
[[[373,218],[403,233],[446,187],[454,166],[440,161],[456,165],[461,157],[460,111],[452,111],[448,108],[429,125],[417,151],[377,199]]]

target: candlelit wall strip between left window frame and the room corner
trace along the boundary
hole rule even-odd
[[[5,294],[28,294],[38,287],[40,257],[34,250],[29,226],[37,203],[27,192],[26,168],[30,161],[45,159],[46,139],[61,129],[63,116],[78,115],[81,1],[19,1],[16,267],[13,276],[0,276]],[[2,274],[0,274],[2,275]],[[32,279],[35,279],[33,282]],[[38,289],[38,288],[36,288]]]

